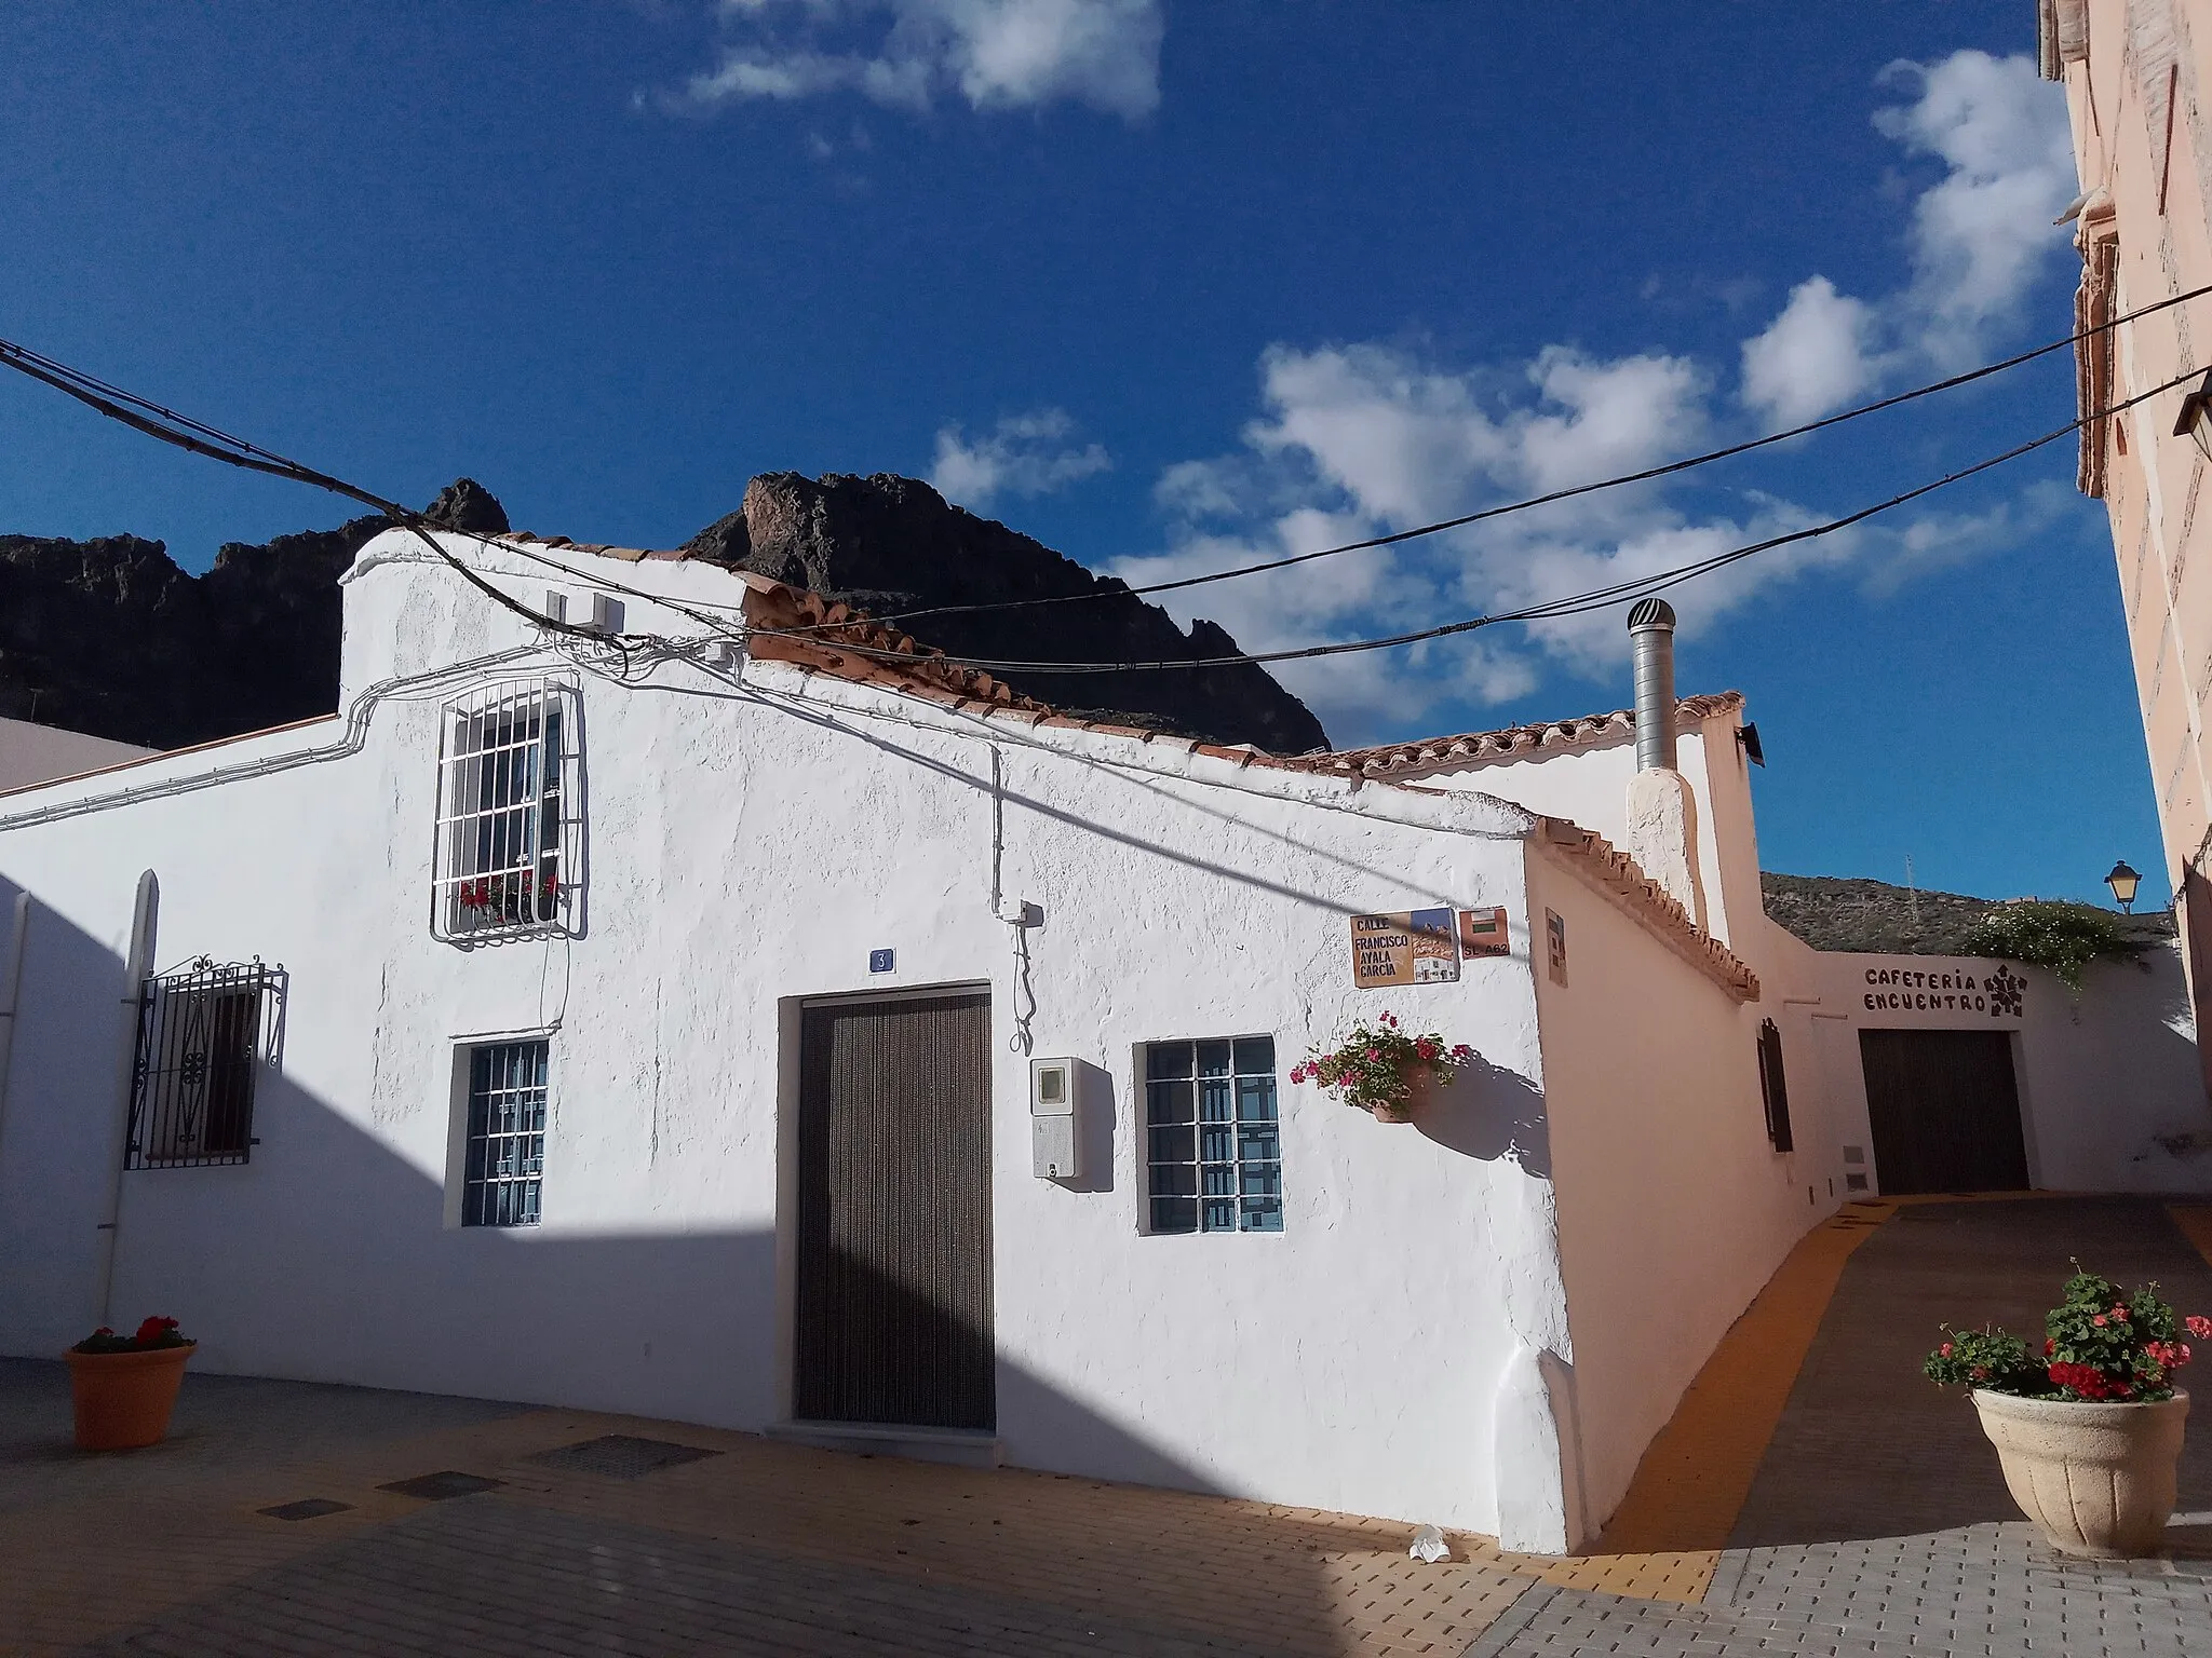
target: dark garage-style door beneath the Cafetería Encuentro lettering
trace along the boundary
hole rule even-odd
[[[1858,1054],[1885,1196],[2026,1189],[2011,1035],[1860,1030]]]

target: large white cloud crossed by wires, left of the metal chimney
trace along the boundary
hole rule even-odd
[[[1276,345],[1261,358],[1263,411],[1245,429],[1245,449],[1170,466],[1155,489],[1172,524],[1168,550],[1121,559],[1113,573],[1133,584],[1168,581],[1641,469],[1694,447],[1708,387],[1694,363],[1661,354],[1593,358],[1546,347],[1517,367],[1455,369],[1385,345]],[[1212,617],[1245,650],[1416,632],[1805,522],[1781,502],[1743,506],[1741,522],[1728,513],[1692,517],[1655,486],[1606,491],[1161,601],[1183,621]],[[1686,634],[1803,562],[1750,562],[1686,592]],[[1610,610],[1276,672],[1338,738],[1358,741],[1402,732],[1442,705],[1522,696],[1548,663],[1610,672],[1626,643],[1621,615]]]

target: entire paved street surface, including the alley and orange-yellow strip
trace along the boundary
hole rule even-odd
[[[2212,1309],[2154,1203],[1847,1211],[1579,1561],[1455,1536],[1431,1567],[1345,1514],[215,1375],[168,1444],[82,1457],[62,1368],[11,1360],[0,1649],[2212,1654],[2212,1433],[2168,1559],[2062,1563],[1916,1373],[1944,1315],[2033,1326],[2070,1253]]]

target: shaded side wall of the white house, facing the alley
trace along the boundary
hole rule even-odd
[[[1528,886],[1537,924],[1557,911],[1568,937],[1566,986],[1542,946],[1535,982],[1595,1534],[1721,1335],[1836,1203],[1818,1105],[1794,1112],[1796,1152],[1767,1143],[1756,1039],[1774,990],[1739,1004],[1681,968],[1555,853],[1531,847]]]

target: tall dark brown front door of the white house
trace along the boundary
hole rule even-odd
[[[991,999],[805,1008],[792,1415],[995,1428]]]

